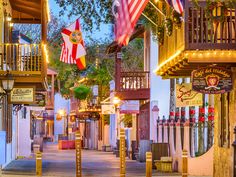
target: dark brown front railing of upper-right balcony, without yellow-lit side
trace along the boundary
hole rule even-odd
[[[185,3],[185,49],[236,48],[236,7],[225,11],[216,7],[207,15],[206,2],[199,1],[199,7],[189,0]]]

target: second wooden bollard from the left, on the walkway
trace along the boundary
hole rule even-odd
[[[75,153],[76,153],[76,177],[82,177],[81,169],[81,136],[77,131],[75,134]]]

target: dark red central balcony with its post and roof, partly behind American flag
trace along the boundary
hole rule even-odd
[[[144,33],[144,27],[138,25],[130,41],[135,38],[144,38]],[[116,56],[115,95],[121,100],[148,100],[150,98],[150,72],[140,71],[140,69],[123,71],[120,50],[120,46],[115,41],[107,49],[107,53],[115,53]]]

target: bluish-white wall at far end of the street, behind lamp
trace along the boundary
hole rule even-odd
[[[67,114],[70,113],[70,100],[64,99],[61,94],[56,93],[54,98],[54,135],[55,141],[58,140],[58,134],[64,133],[64,121],[65,119],[58,121],[56,120],[56,114],[60,109],[64,109]]]

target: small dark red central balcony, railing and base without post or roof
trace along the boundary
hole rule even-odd
[[[116,83],[116,96],[121,100],[149,99],[149,75],[148,71],[121,72],[120,79]]]

